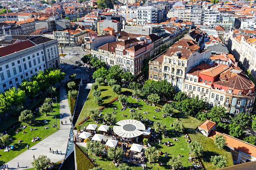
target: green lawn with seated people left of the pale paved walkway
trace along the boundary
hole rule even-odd
[[[59,99],[58,96],[60,96],[60,90],[57,91],[57,99]],[[57,131],[56,128],[52,128],[52,124],[56,123],[55,117],[58,118],[57,123],[60,121],[59,120],[59,113],[60,113],[59,104],[57,107],[56,101],[54,101],[54,104],[52,104],[52,109],[54,110],[54,112],[49,113],[50,116],[45,116],[45,114],[42,114],[36,111],[36,115],[34,118],[35,120],[39,120],[40,123],[28,123],[27,127],[24,130],[23,129],[20,130],[18,134],[15,133],[16,129],[18,129],[20,125],[23,125],[24,123],[18,123],[17,125],[15,125],[14,129],[8,130],[8,134],[12,138],[12,143],[10,143],[10,145],[14,145],[14,149],[10,150],[9,152],[4,152],[4,149],[0,150],[0,165],[8,162],[9,160],[15,158],[16,156],[18,156],[19,154],[27,150],[26,148],[27,144],[29,145],[29,147],[36,145],[39,141],[31,142],[33,137],[38,136],[40,138],[40,141],[42,141],[43,139],[45,139],[46,137],[48,137],[49,135]],[[32,112],[34,111],[35,110],[33,110]],[[44,123],[43,120],[48,121],[48,123]],[[48,126],[50,128],[44,129],[44,126]],[[30,131],[30,127],[32,128],[35,127],[36,130]],[[25,131],[26,135],[22,134],[22,131]],[[18,144],[19,139],[22,140],[20,144]]]

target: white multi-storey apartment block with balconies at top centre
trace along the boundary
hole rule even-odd
[[[158,10],[153,6],[141,6],[137,8],[137,25],[156,23]]]

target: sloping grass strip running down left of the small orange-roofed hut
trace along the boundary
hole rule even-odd
[[[197,141],[199,143],[202,143],[204,147],[204,152],[203,152],[204,155],[202,156],[202,161],[204,163],[204,166],[207,168],[207,170],[215,169],[213,166],[207,165],[207,164],[212,164],[212,162],[210,161],[210,158],[211,156],[214,156],[214,155],[225,156],[227,161],[227,166],[233,165],[232,154],[228,147],[225,147],[224,149],[218,149],[218,147],[214,145],[214,140],[195,131],[198,125],[202,123],[201,121],[189,115],[180,113],[178,111],[177,111],[177,114],[180,120],[182,121],[182,124],[184,125],[190,139],[192,141]]]

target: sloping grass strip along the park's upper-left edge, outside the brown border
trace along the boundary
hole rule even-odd
[[[112,87],[108,86],[107,84],[100,84],[98,90],[101,90],[101,96],[103,99],[103,104],[101,106],[97,106],[93,100],[94,97],[92,96],[92,92],[93,90],[90,91],[88,98],[85,102],[85,106],[83,107],[78,120],[76,121],[76,125],[78,125],[79,122],[81,122],[84,117],[86,117],[86,111],[90,110],[90,109],[100,109],[102,106],[104,106],[105,104],[108,104],[109,102],[111,102],[113,99],[115,99],[116,97],[118,97],[120,94],[116,94],[112,91]],[[132,90],[127,89],[127,88],[122,88],[121,93],[124,93],[126,91],[130,91],[132,92]]]

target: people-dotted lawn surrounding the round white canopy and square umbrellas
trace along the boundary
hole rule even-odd
[[[176,120],[177,117],[173,116],[173,117],[163,118],[162,117],[162,111],[160,111],[160,112],[155,112],[154,111],[156,108],[159,108],[159,107],[149,106],[149,105],[146,105],[145,102],[142,102],[142,100],[140,100],[140,101],[141,102],[137,102],[139,104],[139,107],[141,108],[140,111],[142,111],[142,113],[144,111],[145,112],[148,111],[148,115],[143,114],[144,118],[147,117],[148,119],[153,121],[154,120],[153,116],[156,115],[156,121],[162,121],[163,123],[166,124],[166,129],[167,129],[167,133],[168,133],[169,138],[159,137],[161,139],[161,145],[159,145],[158,142],[156,142],[156,143],[150,142],[150,144],[152,146],[155,146],[156,149],[162,150],[162,152],[167,152],[169,154],[167,158],[165,158],[164,155],[160,156],[159,161],[167,163],[172,155],[178,156],[178,154],[180,154],[180,155],[184,156],[182,158],[182,164],[185,167],[185,170],[190,169],[191,162],[188,161],[188,157],[189,157],[188,152],[189,152],[189,150],[187,149],[187,147],[188,147],[188,143],[186,142],[187,139],[185,139],[181,135],[177,135],[176,133],[173,133],[172,132],[173,127],[170,127],[170,124],[172,123],[172,121]],[[136,103],[136,100],[134,98],[131,98],[130,96],[128,96],[128,102]],[[105,112],[112,112],[114,107],[117,108],[116,114],[115,114],[116,115],[116,121],[120,121],[120,120],[123,120],[123,119],[131,119],[131,117],[129,115],[130,108],[126,109],[125,111],[120,111],[121,104],[119,102],[113,102],[112,105],[106,107],[106,109],[103,109],[102,115],[104,116]],[[136,109],[137,106],[131,106],[131,108],[134,108],[136,111],[138,111]],[[127,115],[127,117],[122,116],[123,113],[124,113],[124,115]],[[86,121],[85,123],[82,123],[81,125],[87,126],[88,123],[94,124],[94,122],[91,119],[89,119],[88,121]],[[102,122],[100,122],[100,123],[102,123]],[[148,122],[146,124],[147,125],[152,125],[152,124],[149,124]],[[174,137],[180,139],[180,141],[179,142],[173,142]],[[172,147],[167,147],[167,146],[163,145],[163,143],[167,142],[168,140],[173,143]],[[181,150],[181,149],[183,149],[183,150]],[[92,156],[92,157],[94,157],[94,156]],[[108,160],[108,158],[102,159],[102,158],[97,158],[96,157],[96,163],[99,164],[102,168],[112,169],[114,167],[114,165],[111,163],[111,160],[110,161],[107,161],[107,160]],[[159,168],[160,170],[169,168],[166,165],[158,166],[157,164],[158,164],[158,162],[156,162],[156,164],[151,164],[151,165],[147,163],[147,166],[152,167],[152,169]],[[137,168],[135,164],[130,164],[129,166],[132,166],[132,168],[135,169],[135,170],[142,168],[142,167]]]

